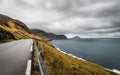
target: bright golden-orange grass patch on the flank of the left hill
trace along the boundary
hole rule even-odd
[[[5,26],[5,25],[0,25],[0,29],[3,29],[5,31],[8,31],[9,33],[11,33],[12,35],[14,35],[15,39],[25,39],[25,38],[36,38],[36,39],[40,39],[39,36],[37,35],[33,35],[31,33],[28,33],[27,31],[25,31],[23,28],[21,28],[20,26],[17,26],[14,24],[14,22],[12,20],[8,21],[7,24],[9,26]]]

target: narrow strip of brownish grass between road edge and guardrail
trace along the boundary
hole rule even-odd
[[[32,73],[31,75],[40,75],[39,64],[37,60],[35,45],[33,44]]]

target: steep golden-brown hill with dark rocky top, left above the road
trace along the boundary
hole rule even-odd
[[[39,36],[31,33],[29,28],[19,20],[0,14],[0,40],[36,38]]]

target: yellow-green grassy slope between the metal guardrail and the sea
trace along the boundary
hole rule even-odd
[[[118,75],[88,61],[78,60],[39,41],[43,58],[50,75]]]

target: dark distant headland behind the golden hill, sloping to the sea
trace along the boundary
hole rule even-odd
[[[37,34],[39,36],[45,36],[48,37],[50,39],[67,39],[67,37],[65,35],[56,35],[53,33],[47,33],[43,30],[39,30],[39,29],[31,29],[31,32],[34,34]]]

